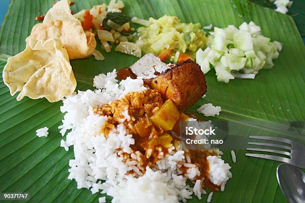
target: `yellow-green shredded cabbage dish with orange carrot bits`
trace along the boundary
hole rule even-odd
[[[138,34],[134,38],[143,54],[153,53],[162,61],[169,59],[176,63],[193,59],[196,51],[206,42],[200,23],[182,23],[176,16],[151,17],[147,23],[134,18],[132,21],[146,24],[137,29]]]

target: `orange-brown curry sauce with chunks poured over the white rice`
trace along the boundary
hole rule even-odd
[[[136,78],[129,68],[119,70],[117,75],[119,80],[124,80],[127,77]],[[122,112],[128,109],[131,119],[125,120],[124,125],[128,129],[128,133],[132,134],[135,139],[135,144],[130,147],[134,151],[140,152],[140,171],[143,174],[145,173],[146,166],[155,166],[158,160],[169,153],[169,148],[179,146],[179,121],[176,122],[172,130],[165,131],[160,126],[153,125],[150,120],[150,117],[162,104],[163,100],[158,91],[148,88],[144,92],[129,93],[125,98],[114,101],[111,104],[94,107],[95,113],[108,116],[107,124],[103,129],[106,136],[114,126],[120,123],[119,120],[124,118]],[[186,114],[194,117],[193,112],[187,111]],[[189,118],[186,114],[180,114],[180,121]],[[199,119],[198,116],[195,116],[195,118]],[[190,150],[186,153],[189,154],[191,163],[199,168],[200,176],[196,177],[196,179],[201,180],[202,187],[214,192],[220,191],[220,187],[212,184],[208,178],[209,164],[206,159],[209,155],[218,155],[217,152],[213,150]],[[123,153],[123,157],[126,162],[133,161],[127,153]],[[183,166],[183,164],[181,165],[179,171],[184,175],[188,168]],[[130,171],[130,173],[132,172]]]

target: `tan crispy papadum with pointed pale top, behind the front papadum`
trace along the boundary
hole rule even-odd
[[[81,59],[92,55],[96,41],[92,32],[85,32],[81,22],[70,10],[70,0],[61,0],[49,9],[42,23],[34,25],[30,36],[36,40],[58,37],[66,48],[69,59]]]

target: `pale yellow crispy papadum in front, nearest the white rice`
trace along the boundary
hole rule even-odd
[[[21,91],[17,101],[27,96],[57,102],[76,88],[68,53],[58,38],[28,38],[25,50],[7,59],[3,81],[12,96]]]

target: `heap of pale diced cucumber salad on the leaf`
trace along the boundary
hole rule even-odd
[[[282,50],[280,42],[271,42],[261,35],[261,28],[254,22],[214,28],[207,40],[207,48],[198,49],[196,62],[203,73],[212,68],[217,80],[228,83],[234,78],[254,79],[261,69],[270,69]]]

